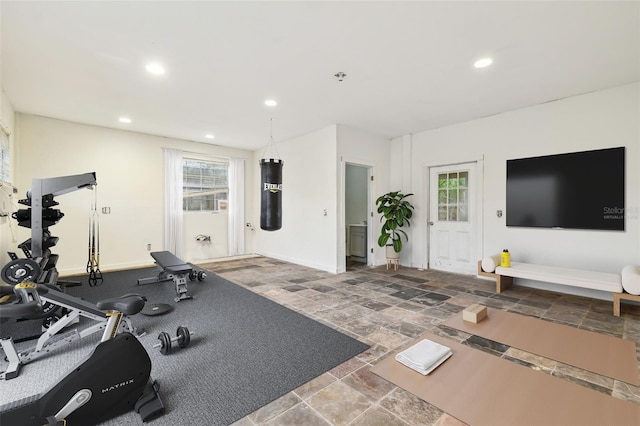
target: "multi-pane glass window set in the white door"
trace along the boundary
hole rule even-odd
[[[469,221],[469,172],[438,174],[438,220]]]

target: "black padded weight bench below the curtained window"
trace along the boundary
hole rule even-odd
[[[207,276],[204,271],[196,271],[193,265],[186,263],[170,251],[154,251],[151,257],[156,261],[160,272],[155,277],[140,278],[138,285],[173,281],[176,285],[176,297],[173,300],[176,302],[192,299],[192,296],[187,294],[187,278],[191,281],[196,278],[202,281]]]

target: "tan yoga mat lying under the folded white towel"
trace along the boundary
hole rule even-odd
[[[428,376],[395,360],[371,371],[473,426],[638,425],[640,405],[576,385],[453,340],[425,334],[453,355]]]

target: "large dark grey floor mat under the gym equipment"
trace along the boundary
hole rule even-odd
[[[167,408],[155,426],[231,424],[368,348],[213,273],[202,282],[188,282],[193,299],[179,303],[173,301],[171,281],[136,284],[154,273],[150,268],[105,273],[101,286],[85,284],[68,294],[95,302],[137,292],[149,303],[173,305],[166,315],[132,317],[147,332],[140,341],[151,356],[152,377],[160,383]],[[160,332],[174,336],[179,326],[194,332],[189,347],[176,347],[169,355],[152,348]],[[71,350],[26,365],[18,378],[0,383],[0,404],[41,392],[83,359],[98,338],[85,338]],[[127,360],[114,358],[111,368],[122,362]],[[105,424],[142,422],[131,412]]]

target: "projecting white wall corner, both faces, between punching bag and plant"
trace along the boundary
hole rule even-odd
[[[276,143],[284,160],[282,190],[282,229],[260,229],[260,194],[256,191],[256,252],[324,271],[346,270],[345,168],[347,163],[371,167],[368,207],[373,211],[376,194],[388,191],[389,141],[377,135],[343,125],[332,125],[316,132]],[[255,185],[260,187],[255,151]],[[324,216],[324,210],[327,216]],[[379,217],[373,219],[378,223]],[[373,231],[371,229],[373,228]],[[377,228],[368,227],[368,246],[375,247],[374,259],[384,263],[384,250],[377,247]]]

